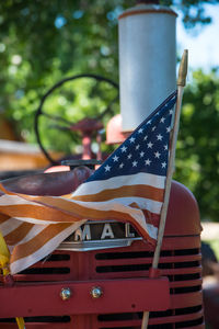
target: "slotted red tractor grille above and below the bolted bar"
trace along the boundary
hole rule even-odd
[[[173,248],[174,246],[174,248]],[[56,251],[16,275],[21,282],[130,279],[149,275],[153,252],[143,241],[130,247],[72,252]],[[205,328],[203,317],[200,240],[170,237],[163,241],[159,269],[170,281],[171,309],[151,311],[149,329]],[[146,296],[146,298],[151,296]],[[153,296],[159,298],[158,296]],[[26,328],[140,329],[142,313],[100,314],[26,318]],[[16,328],[12,319],[1,319],[0,328]]]

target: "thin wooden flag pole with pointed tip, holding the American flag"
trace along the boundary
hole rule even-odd
[[[165,194],[164,194],[163,206],[161,209],[161,219],[160,219],[160,225],[159,225],[158,241],[157,241],[155,251],[154,251],[154,256],[153,256],[152,269],[151,269],[152,271],[150,272],[151,273],[150,276],[153,276],[153,273],[155,273],[155,270],[158,269],[160,250],[161,250],[164,229],[165,229],[165,219],[166,219],[168,205],[169,205],[169,198],[170,198],[170,193],[171,193],[171,182],[172,182],[172,177],[173,177],[173,172],[174,172],[175,147],[176,147],[176,140],[177,140],[178,126],[180,126],[181,105],[182,105],[184,87],[186,84],[187,60],[188,60],[187,58],[188,58],[188,50],[185,49],[183,53],[180,69],[178,69],[177,100],[176,100],[176,106],[175,106],[174,126],[173,126],[173,132],[172,132],[170,159],[169,159],[169,167],[168,167],[168,173],[166,173]],[[149,321],[149,311],[143,311],[141,329],[148,328],[148,321]]]

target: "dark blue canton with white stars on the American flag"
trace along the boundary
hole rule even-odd
[[[175,102],[176,91],[158,106],[87,181],[138,172],[166,175]]]

